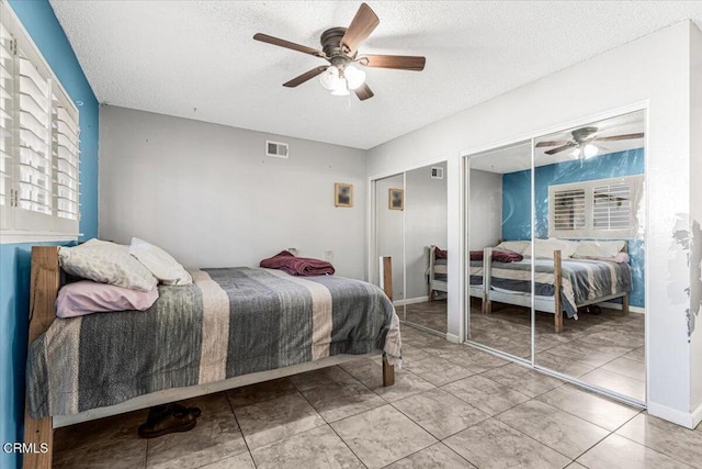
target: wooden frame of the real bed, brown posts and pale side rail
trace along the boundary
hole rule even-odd
[[[389,258],[388,258],[389,263]],[[392,271],[392,270],[390,270]],[[30,278],[30,316],[29,316],[29,345],[42,335],[56,319],[56,297],[63,284],[63,271],[58,263],[58,246],[33,246],[32,247],[32,271]],[[389,283],[392,288],[392,282]],[[387,293],[387,292],[386,292]],[[392,298],[392,290],[389,291]],[[24,410],[24,443],[34,444],[39,448],[41,444],[48,445],[47,453],[27,453],[24,455],[24,469],[50,469],[54,448],[54,428],[72,425],[80,422],[88,422],[110,415],[146,409],[152,405],[205,395],[227,389],[239,388],[257,382],[269,381],[271,379],[296,375],[304,371],[325,368],[344,361],[356,360],[366,355],[335,355],[321,360],[294,365],[269,371],[261,371],[240,377],[229,378],[223,381],[192,386],[188,388],[176,388],[158,391],[150,394],[140,395],[117,405],[92,409],[75,415],[32,418],[29,407]],[[387,362],[383,356],[383,386],[395,383],[395,367]]]

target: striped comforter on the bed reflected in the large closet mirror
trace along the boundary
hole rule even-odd
[[[531,259],[520,263],[491,263],[490,284],[503,290],[531,292]],[[553,297],[553,259],[536,259],[535,293],[540,297]],[[483,261],[471,261],[471,284],[483,283]],[[626,263],[590,259],[563,259],[561,292],[563,308],[568,317],[573,317],[578,305],[598,298],[623,293],[632,290],[632,271]]]

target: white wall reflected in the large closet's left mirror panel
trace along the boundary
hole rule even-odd
[[[468,186],[468,250],[483,250],[502,237],[502,175],[472,169]]]

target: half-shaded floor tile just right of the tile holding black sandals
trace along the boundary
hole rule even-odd
[[[237,407],[235,414],[251,450],[325,424],[299,393]]]

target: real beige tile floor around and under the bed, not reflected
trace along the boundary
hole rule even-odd
[[[194,399],[190,432],[150,440],[146,411],[59,428],[58,468],[702,468],[689,431],[475,348],[403,327],[380,357]]]

